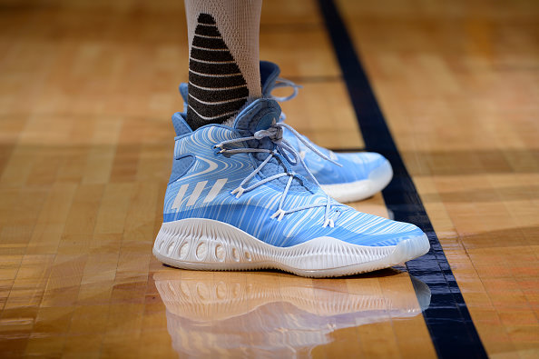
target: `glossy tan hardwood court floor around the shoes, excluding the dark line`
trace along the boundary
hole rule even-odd
[[[487,354],[537,357],[539,2],[337,4]],[[0,356],[436,356],[403,265],[312,280],[152,256],[181,0],[0,6]],[[265,0],[260,27],[260,57],[304,85],[289,124],[362,147],[317,2]]]

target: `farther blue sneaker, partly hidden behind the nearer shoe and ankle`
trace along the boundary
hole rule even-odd
[[[297,94],[298,85],[289,80],[279,78],[279,66],[268,61],[260,61],[260,78],[262,81],[262,95],[277,101],[288,101]],[[289,97],[275,97],[271,91],[278,87],[292,87],[293,95]],[[188,86],[180,85],[180,93],[184,104],[187,105]],[[184,107],[184,111],[187,108]],[[284,121],[284,115],[280,121]],[[310,173],[315,176],[320,186],[338,202],[347,203],[360,201],[384,189],[393,177],[393,170],[389,161],[383,156],[373,152],[334,153],[324,147],[315,145],[309,138],[302,138],[314,146],[319,152],[327,155],[339,165],[332,164],[315,154],[307,145],[288,129],[284,130],[283,137],[289,141],[299,153]],[[293,166],[299,175],[308,176],[301,165]]]

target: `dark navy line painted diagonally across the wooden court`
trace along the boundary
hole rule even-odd
[[[408,262],[407,269],[409,274],[425,282],[432,292],[431,304],[423,316],[436,353],[439,357],[486,357],[446,254],[389,133],[346,25],[332,0],[319,0],[319,7],[356,111],[366,149],[385,155],[393,166],[393,180],[382,192],[387,208],[393,211],[395,220],[416,224],[428,235],[430,252]]]

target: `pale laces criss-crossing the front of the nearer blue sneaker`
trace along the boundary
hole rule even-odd
[[[334,225],[335,225],[334,220],[337,219],[339,211],[335,210],[334,214],[330,216],[332,199],[331,199],[331,197],[329,197],[328,194],[326,194],[327,197],[326,197],[326,203],[325,204],[307,204],[307,205],[302,205],[302,206],[287,209],[287,210],[282,208],[282,206],[283,206],[283,204],[284,204],[284,202],[286,200],[287,194],[289,193],[289,188],[290,188],[290,185],[292,184],[292,180],[294,179],[294,177],[299,177],[299,179],[301,179],[302,178],[301,175],[298,175],[296,173],[289,172],[288,170],[286,170],[285,172],[282,172],[280,174],[271,175],[270,177],[266,177],[266,178],[260,180],[259,182],[255,183],[255,184],[251,184],[248,187],[244,187],[244,185],[247,184],[251,179],[253,179],[255,175],[260,173],[262,168],[264,168],[264,166],[267,165],[270,162],[271,158],[273,158],[273,157],[277,157],[277,158],[282,157],[282,158],[279,158],[280,161],[284,161],[284,159],[286,159],[286,161],[288,161],[289,164],[291,164],[291,165],[297,165],[298,161],[299,161],[301,163],[301,165],[303,165],[305,167],[305,169],[307,170],[309,175],[312,177],[312,179],[314,179],[314,181],[317,184],[319,184],[318,181],[316,180],[316,178],[314,177],[314,175],[312,175],[310,173],[307,166],[305,166],[305,164],[303,164],[303,160],[301,159],[301,156],[298,154],[298,152],[292,147],[292,145],[289,144],[289,142],[287,140],[282,138],[283,127],[287,128],[292,134],[294,134],[296,137],[298,137],[299,141],[301,141],[304,145],[309,147],[309,149],[311,151],[313,151],[315,154],[319,155],[321,158],[323,158],[323,159],[325,159],[325,160],[327,160],[327,161],[329,161],[331,163],[334,163],[334,164],[338,165],[333,160],[331,160],[327,155],[322,154],[321,152],[319,152],[318,149],[316,149],[312,145],[310,145],[309,142],[307,142],[303,138],[302,135],[299,135],[299,133],[296,130],[294,130],[290,125],[286,125],[286,124],[283,124],[283,123],[276,123],[274,121],[273,124],[271,124],[271,126],[267,130],[257,131],[252,136],[241,137],[241,138],[237,138],[237,139],[234,139],[234,140],[222,141],[219,145],[214,145],[215,149],[220,148],[219,153],[223,154],[223,155],[234,155],[234,154],[244,154],[244,153],[267,153],[268,154],[266,159],[264,161],[262,161],[260,163],[260,165],[253,172],[250,173],[250,175],[245,177],[245,179],[243,181],[241,181],[238,188],[234,189],[231,192],[231,194],[236,194],[236,198],[240,198],[240,196],[242,194],[244,194],[246,192],[249,192],[249,191],[252,191],[253,189],[259,187],[262,184],[266,184],[266,183],[268,183],[270,181],[273,181],[274,179],[277,179],[277,178],[280,178],[280,177],[288,176],[289,179],[287,181],[287,184],[285,185],[283,193],[280,196],[279,207],[278,207],[277,211],[274,214],[271,214],[271,218],[277,218],[278,221],[281,221],[285,214],[291,214],[291,213],[295,213],[295,212],[298,212],[298,211],[307,210],[307,209],[310,209],[310,208],[325,206],[326,207],[326,212],[324,214],[324,224],[322,226],[327,227],[329,225],[329,227],[334,227]],[[249,148],[249,147],[248,148],[233,148],[233,149],[230,149],[230,148],[225,147],[226,145],[232,145],[232,144],[237,144],[237,143],[241,143],[241,142],[246,143],[247,141],[251,141],[251,140],[260,140],[260,139],[262,139],[264,137],[270,138],[271,142],[273,144],[275,144],[275,149],[270,150],[270,149],[266,149],[266,148]],[[294,158],[291,158],[288,154],[291,154]]]

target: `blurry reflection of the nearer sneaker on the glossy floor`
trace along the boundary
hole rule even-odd
[[[410,279],[416,291],[404,276],[350,278],[341,291],[328,280],[266,273],[153,275],[174,349],[205,357],[245,348],[256,356],[309,354],[338,329],[414,317],[430,304],[430,290]]]

